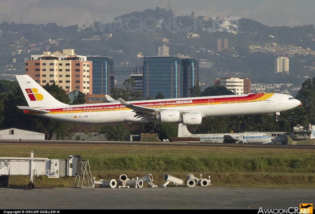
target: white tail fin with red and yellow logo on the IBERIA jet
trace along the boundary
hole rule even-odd
[[[19,82],[27,104],[31,108],[47,108],[68,105],[56,100],[28,75],[17,75],[15,77]]]

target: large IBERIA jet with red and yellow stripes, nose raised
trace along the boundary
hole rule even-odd
[[[106,96],[111,103],[68,105],[61,103],[28,75],[15,76],[29,106],[17,106],[24,113],[72,123],[103,124],[122,122],[148,123],[145,129],[160,131],[159,122],[199,125],[203,117],[259,115],[276,113],[300,105],[286,94],[238,94],[126,102]]]

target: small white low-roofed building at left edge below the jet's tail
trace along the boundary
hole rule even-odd
[[[35,132],[35,131],[26,131],[22,129],[4,129],[0,130],[0,139],[1,140],[45,140],[45,134]]]

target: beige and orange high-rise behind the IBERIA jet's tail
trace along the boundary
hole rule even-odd
[[[25,61],[25,74],[40,85],[56,83],[66,92],[77,89],[92,94],[93,91],[92,62],[86,56],[76,55],[74,49],[31,55],[31,60]]]

